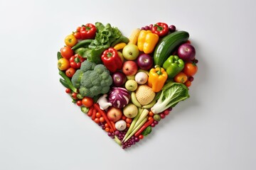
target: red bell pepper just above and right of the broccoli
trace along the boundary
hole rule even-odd
[[[118,69],[122,69],[121,57],[119,57],[117,50],[113,47],[103,52],[101,60],[110,72],[116,72]]]

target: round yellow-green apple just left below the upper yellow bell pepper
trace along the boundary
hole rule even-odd
[[[122,50],[122,55],[125,60],[136,60],[139,56],[139,48],[134,44],[125,45]]]

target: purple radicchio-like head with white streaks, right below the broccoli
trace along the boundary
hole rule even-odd
[[[112,87],[108,96],[109,102],[112,103],[112,106],[115,108],[124,108],[124,106],[127,106],[129,103],[130,98],[129,91],[122,87]]]

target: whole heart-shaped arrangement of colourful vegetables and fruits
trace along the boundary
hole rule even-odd
[[[198,60],[188,38],[166,23],[137,28],[129,38],[110,23],[87,23],[58,52],[60,83],[126,149],[189,97]]]

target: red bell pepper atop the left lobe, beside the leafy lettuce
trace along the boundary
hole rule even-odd
[[[95,38],[97,28],[92,23],[87,23],[80,28],[80,35],[82,40]]]

